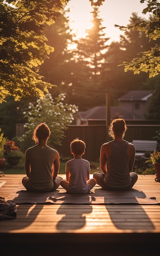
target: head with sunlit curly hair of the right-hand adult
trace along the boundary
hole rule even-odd
[[[113,132],[114,130],[114,132]],[[125,120],[122,118],[114,119],[112,120],[110,127],[109,127],[109,132],[108,134],[110,137],[114,138],[114,133],[116,135],[121,135],[123,134],[123,137],[125,136],[125,131],[127,130],[127,126],[125,123]]]

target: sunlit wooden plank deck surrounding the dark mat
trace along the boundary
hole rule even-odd
[[[64,177],[64,175],[61,175]],[[24,175],[5,175],[5,199]],[[134,189],[160,201],[155,175]],[[15,220],[0,220],[0,255],[160,255],[160,205],[20,204]]]

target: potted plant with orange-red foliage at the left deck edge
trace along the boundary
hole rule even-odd
[[[15,146],[15,142],[7,140],[4,144],[4,156],[7,157],[9,164],[16,165],[20,162],[20,158],[23,153],[20,151],[18,146]]]

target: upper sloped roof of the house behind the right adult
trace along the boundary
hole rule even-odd
[[[118,101],[147,101],[152,96],[151,90],[136,90],[127,92]]]

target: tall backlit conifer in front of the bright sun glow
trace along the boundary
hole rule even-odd
[[[85,38],[77,40],[70,86],[70,101],[76,103],[79,110],[105,105],[105,93],[101,93],[102,71],[105,66],[106,42],[110,38],[105,36],[103,20],[99,17],[99,6],[103,0],[90,0],[90,2],[93,7],[91,20],[93,27],[86,30]]]

